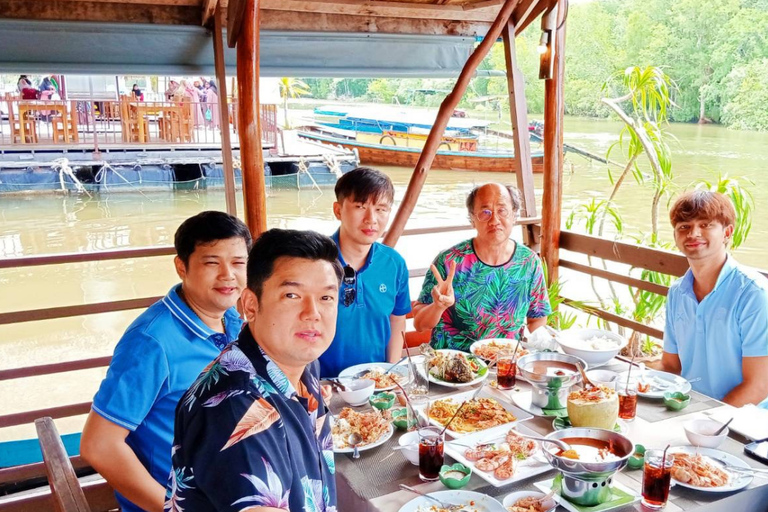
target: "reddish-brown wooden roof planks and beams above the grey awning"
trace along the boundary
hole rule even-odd
[[[244,0],[0,0],[0,18],[208,26],[218,5],[234,41]],[[260,0],[261,29],[481,36],[503,0]],[[522,30],[554,0],[519,0]]]

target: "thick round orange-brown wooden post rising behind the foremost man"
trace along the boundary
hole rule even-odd
[[[238,136],[245,223],[256,238],[267,229],[259,105],[259,4],[258,0],[244,0],[244,4],[242,28],[237,39]]]

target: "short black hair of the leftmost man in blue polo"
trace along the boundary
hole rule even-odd
[[[198,245],[207,245],[229,238],[242,238],[248,250],[253,245],[251,232],[243,221],[228,213],[206,211],[181,223],[173,238],[173,245],[176,248],[176,255],[186,266]]]

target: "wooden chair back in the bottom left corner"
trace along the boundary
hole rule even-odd
[[[51,488],[51,501],[56,512],[105,512],[118,508],[112,487],[103,479],[81,486],[72,461],[67,456],[61,436],[50,417],[35,420],[43,463]],[[86,496],[88,497],[86,499]],[[35,510],[46,510],[38,507]]]

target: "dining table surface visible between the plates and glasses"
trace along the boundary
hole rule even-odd
[[[602,369],[623,372],[627,370],[628,366],[627,361],[617,358],[602,366]],[[488,378],[493,379],[492,376]],[[513,404],[529,403],[532,394],[530,384],[520,378],[517,379],[515,387],[511,390],[503,391],[488,385],[485,388],[497,400]],[[435,400],[463,391],[467,391],[467,388],[455,389],[430,383],[429,395],[430,400]],[[636,417],[633,421],[624,423],[624,434],[633,443],[642,444],[647,449],[663,449],[667,445],[688,445],[690,443],[683,430],[685,422],[697,418],[709,418],[710,415],[714,414],[727,416],[729,410],[736,410],[730,405],[696,391],[690,391],[689,394],[691,395],[691,402],[681,411],[668,410],[663,401],[659,399],[638,397]],[[345,406],[347,405],[334,393],[330,402],[331,411],[338,413]],[[370,407],[354,409],[365,410],[370,409]],[[543,436],[553,431],[553,420],[554,418],[549,416],[534,416],[519,422],[517,430],[523,434]],[[393,450],[398,446],[398,438],[402,434],[402,431],[395,430],[394,435],[381,446],[361,451],[359,459],[353,459],[348,454],[336,454],[336,486],[340,512],[398,512],[406,503],[416,498],[412,492],[400,489],[401,484],[414,487],[424,493],[447,490],[440,481],[422,482],[419,479],[418,466],[412,465],[406,460],[402,452]],[[450,440],[451,438],[447,436],[446,442]],[[740,458],[753,468],[768,469],[768,466],[744,454],[745,443],[749,441],[749,439],[732,431],[719,447],[719,450]],[[453,459],[446,455],[445,463],[453,464],[453,462]],[[473,473],[469,483],[462,490],[486,494],[501,502],[506,495],[512,492],[539,491],[540,489],[534,484],[552,480],[557,474],[555,469],[549,469],[525,480],[494,487]],[[632,491],[639,497],[642,475],[641,469],[631,470],[629,467],[625,467],[614,475],[613,481],[614,484],[618,482],[623,488]],[[564,511],[566,508],[560,505],[557,510]],[[594,507],[581,510],[597,512],[604,509]],[[648,509],[644,508],[638,500],[610,510],[622,512]],[[664,510],[666,512],[679,510],[701,512],[768,510],[768,479],[756,475],[747,487],[730,493],[707,492],[673,485]]]

